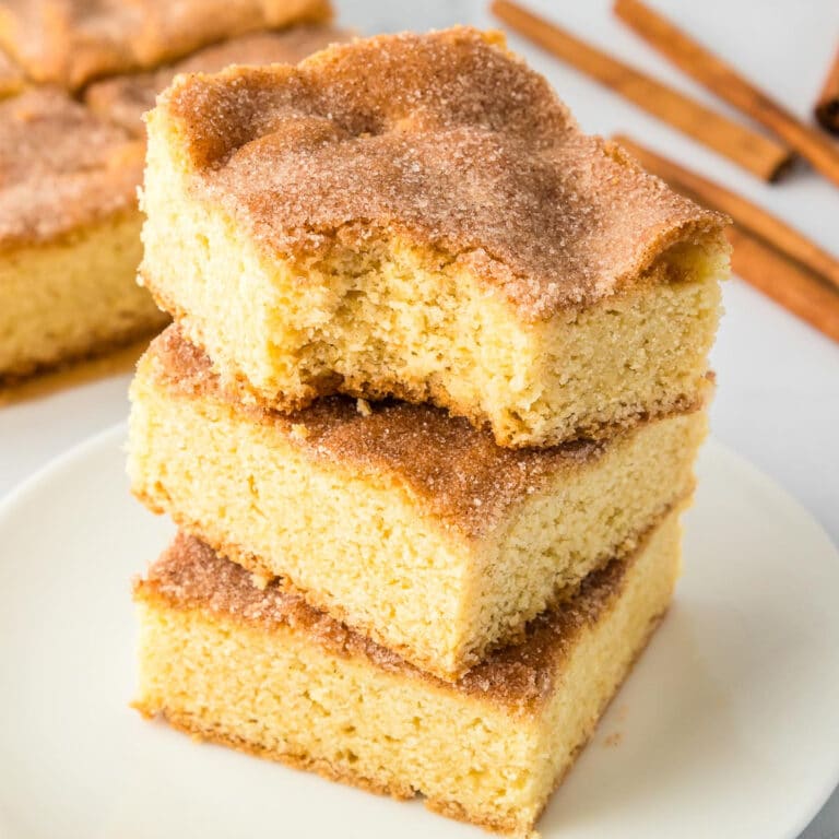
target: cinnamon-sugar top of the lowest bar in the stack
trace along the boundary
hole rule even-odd
[[[577,596],[562,610],[547,612],[528,627],[522,641],[491,652],[454,683],[409,664],[393,651],[312,608],[282,583],[253,584],[247,569],[218,556],[203,542],[179,533],[154,563],[143,580],[134,583],[139,600],[159,602],[172,608],[201,608],[210,615],[258,625],[271,630],[289,626],[305,633],[330,652],[364,657],[389,672],[410,674],[441,688],[506,706],[515,712],[532,713],[553,690],[554,675],[582,628],[592,625],[612,607],[624,586],[627,567],[646,545],[625,559],[615,559],[590,575]]]

